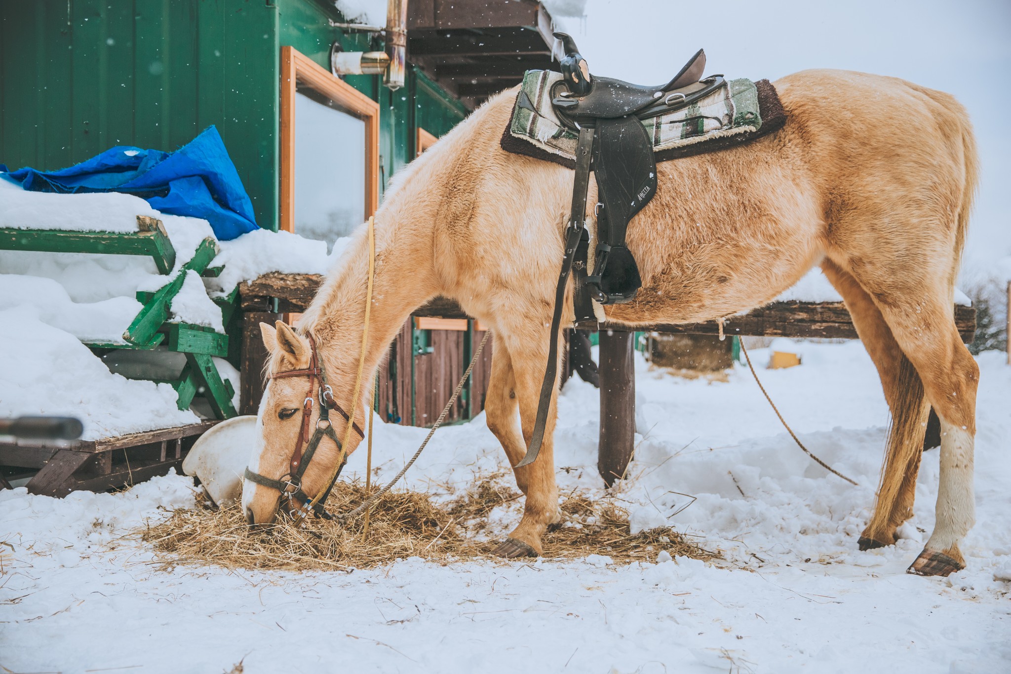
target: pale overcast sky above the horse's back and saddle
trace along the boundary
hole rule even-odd
[[[1011,256],[1011,0],[588,0],[583,11],[557,23],[599,75],[665,82],[704,47],[707,74],[774,81],[839,68],[954,94],[973,117],[983,163],[963,276]]]

